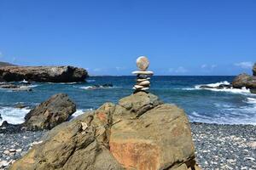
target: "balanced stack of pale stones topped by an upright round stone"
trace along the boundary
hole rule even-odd
[[[148,58],[145,56],[141,56],[137,58],[137,68],[139,71],[133,71],[132,74],[137,75],[137,83],[133,87],[135,89],[135,93],[140,91],[147,91],[150,87],[150,77],[153,76],[153,71],[147,71],[149,66]]]

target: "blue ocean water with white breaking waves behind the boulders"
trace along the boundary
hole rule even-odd
[[[9,123],[24,122],[24,116],[34,106],[53,94],[65,93],[76,103],[74,116],[94,110],[105,102],[117,103],[133,93],[136,77],[89,77],[86,82],[32,82],[32,92],[13,92],[0,89],[0,114]],[[151,79],[149,92],[166,103],[178,105],[190,122],[219,124],[256,124],[256,94],[247,89],[200,89],[200,85],[229,84],[234,77],[160,77]],[[15,82],[22,83],[22,82]],[[91,89],[94,85],[113,84],[113,87]],[[26,105],[23,109],[15,105]]]

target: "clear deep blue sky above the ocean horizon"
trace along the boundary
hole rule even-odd
[[[256,1],[0,0],[0,60],[130,75],[251,73]]]

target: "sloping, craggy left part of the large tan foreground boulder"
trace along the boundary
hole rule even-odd
[[[108,150],[113,111],[114,105],[106,103],[94,112],[53,128],[43,138],[43,143],[35,145],[10,169],[123,170]]]

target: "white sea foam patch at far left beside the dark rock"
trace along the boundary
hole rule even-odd
[[[0,107],[0,115],[2,120],[0,120],[0,125],[3,121],[7,121],[11,124],[19,124],[24,122],[24,117],[30,110],[28,108],[13,108],[13,107]]]

